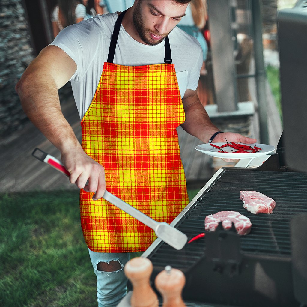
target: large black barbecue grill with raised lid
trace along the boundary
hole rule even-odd
[[[233,210],[250,218],[251,232],[239,236],[234,227],[225,231],[219,225],[180,251],[157,239],[143,254],[153,263],[152,286],[167,265],[185,273],[188,307],[307,306],[307,146],[301,145],[298,133],[307,129],[307,1],[283,10],[278,20],[285,131],[276,153],[257,169],[218,170],[171,224],[191,239],[205,232],[207,215]],[[299,65],[292,66],[293,60]],[[298,150],[304,154],[291,154]],[[273,198],[273,213],[245,210],[241,190]]]

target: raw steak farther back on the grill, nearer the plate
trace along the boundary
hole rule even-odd
[[[253,214],[272,213],[275,201],[256,191],[240,191],[240,200],[243,200],[243,208]]]

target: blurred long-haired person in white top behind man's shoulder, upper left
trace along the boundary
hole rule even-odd
[[[51,15],[53,36],[56,37],[68,25],[84,19],[87,19],[86,8],[79,0],[58,0]]]

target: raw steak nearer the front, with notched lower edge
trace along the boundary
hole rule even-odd
[[[233,222],[238,235],[247,235],[251,231],[251,220],[237,211],[220,211],[206,216],[205,230],[215,231],[220,222],[225,230],[230,229]]]

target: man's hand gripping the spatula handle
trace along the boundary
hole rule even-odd
[[[104,167],[83,150],[62,152],[62,162],[70,173],[69,181],[86,192],[95,192],[93,200],[100,199],[106,190]],[[88,181],[88,182],[87,182]]]

